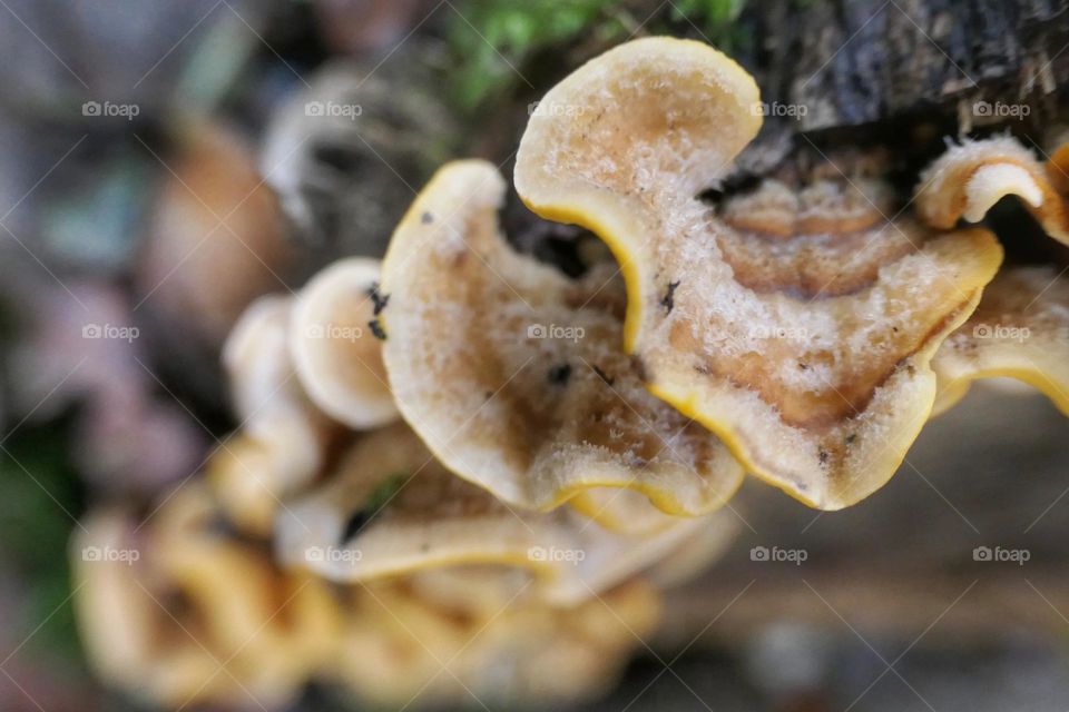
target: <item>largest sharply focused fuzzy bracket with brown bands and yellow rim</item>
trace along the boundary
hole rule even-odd
[[[794,196],[765,186],[754,219],[754,205],[716,215],[698,196],[728,175],[759,117],[753,79],[713,48],[628,42],[539,103],[516,187],[542,217],[612,249],[624,348],[650,392],[747,471],[836,510],[894,474],[935,398],[932,354],[1002,253],[987,230],[882,219],[879,197],[849,181]]]

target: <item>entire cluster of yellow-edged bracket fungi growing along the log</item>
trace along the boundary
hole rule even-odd
[[[79,565],[108,679],[167,703],[310,678],[380,703],[582,696],[724,550],[747,472],[834,510],[974,378],[1069,411],[1069,291],[999,274],[996,237],[959,225],[1017,195],[1065,241],[1057,160],[953,148],[909,212],[827,171],[714,207],[761,125],[716,50],[628,42],[539,107],[517,191],[615,260],[569,278],[517,253],[498,170],[458,161],[381,264],[254,304],[224,355],[242,426],[206,477],[147,525],[88,523],[82,545],[145,552]]]

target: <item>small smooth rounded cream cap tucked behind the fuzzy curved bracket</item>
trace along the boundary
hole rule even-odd
[[[290,320],[301,385],[324,413],[357,431],[398,417],[380,344],[369,326],[389,300],[379,291],[379,269],[376,259],[334,263],[301,289]]]

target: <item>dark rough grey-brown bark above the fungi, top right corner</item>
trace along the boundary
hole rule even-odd
[[[771,111],[788,112],[748,151],[758,171],[801,132],[906,154],[990,128],[1045,144],[1066,98],[1066,0],[773,0],[748,4],[738,34]]]

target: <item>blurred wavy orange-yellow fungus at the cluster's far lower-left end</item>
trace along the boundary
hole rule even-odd
[[[105,511],[75,540],[79,622],[101,676],[169,706],[292,700],[334,650],[328,590],[217,531],[203,483],[158,516],[136,536],[146,523]]]

